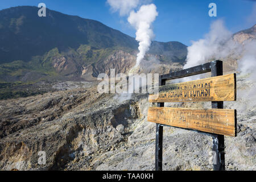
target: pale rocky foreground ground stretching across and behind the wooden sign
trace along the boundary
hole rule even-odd
[[[253,83],[238,78],[238,93],[248,88]],[[147,98],[136,94],[121,102],[92,87],[0,101],[0,168],[154,170],[155,123],[147,122]],[[255,170],[256,114],[249,100],[249,93],[238,94],[236,102],[224,103],[238,113],[237,137],[225,137],[226,170]],[[210,108],[210,102],[166,106]],[[164,127],[163,139],[164,170],[212,170],[210,135]],[[44,165],[39,151],[46,152]]]

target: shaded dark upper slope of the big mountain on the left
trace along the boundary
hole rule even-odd
[[[97,48],[137,48],[137,42],[122,32],[96,20],[61,14],[47,9],[46,17],[37,15],[38,8],[12,7],[0,11],[0,60],[29,61],[53,48],[66,51],[89,44]]]

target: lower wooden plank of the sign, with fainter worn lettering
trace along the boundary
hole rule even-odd
[[[147,121],[236,137],[236,110],[150,107]]]

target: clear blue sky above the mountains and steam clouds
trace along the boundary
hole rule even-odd
[[[129,1],[129,0],[128,0]],[[8,0],[0,1],[0,10],[14,6],[38,6],[46,3],[48,9],[82,18],[98,20],[109,27],[135,37],[135,30],[127,23],[127,17],[113,13],[106,0]],[[256,1],[249,0],[155,0],[159,13],[154,26],[155,40],[179,41],[187,46],[191,40],[203,38],[210,23],[223,19],[228,30],[237,32],[256,23]],[[208,15],[208,5],[217,5],[217,17]]]

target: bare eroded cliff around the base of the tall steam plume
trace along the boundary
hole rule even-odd
[[[128,75],[132,68],[136,64],[137,52],[127,53],[125,51],[119,50],[115,51],[113,54],[109,55],[107,59],[100,61],[98,63],[83,66],[81,68],[81,77],[85,80],[96,80],[100,73],[106,73],[110,76],[110,69],[115,69],[115,75],[118,73],[123,73]],[[163,55],[151,55],[147,54],[147,58],[142,60],[139,68],[137,68],[136,73],[160,73],[166,74],[173,71],[182,69],[181,63],[175,63],[169,61],[161,62],[158,60],[159,57]]]

